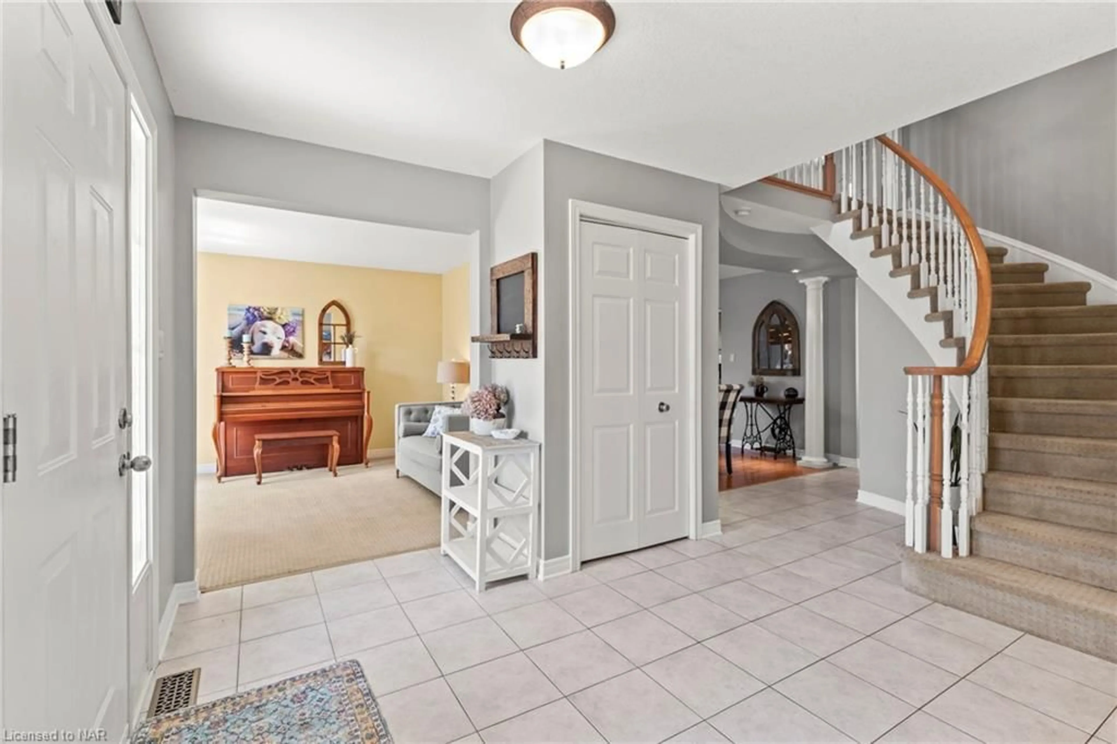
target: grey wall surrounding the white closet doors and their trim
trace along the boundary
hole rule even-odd
[[[697,222],[703,228],[703,519],[717,518],[717,294],[718,200],[716,183],[544,142],[546,237],[543,298],[546,313],[545,557],[570,551],[569,389],[565,350],[570,344],[570,200],[630,209]]]

